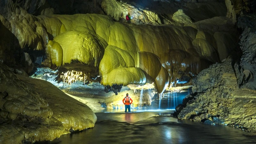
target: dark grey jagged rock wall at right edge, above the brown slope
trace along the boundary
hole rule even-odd
[[[244,31],[240,37],[243,52],[240,63],[235,65],[238,84],[241,88],[256,90],[256,34],[255,15],[245,15],[238,20],[238,27]]]

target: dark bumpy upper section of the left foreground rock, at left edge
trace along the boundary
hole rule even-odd
[[[2,117],[14,120],[19,115],[42,118],[52,116],[52,110],[38,93],[20,82],[7,66],[1,67],[3,68],[0,71],[2,95],[0,108],[4,109],[0,111]]]

